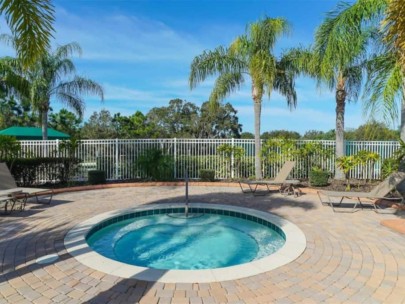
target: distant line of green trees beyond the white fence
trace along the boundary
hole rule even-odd
[[[36,126],[38,114],[29,102],[17,101],[13,96],[0,96],[0,129],[11,126]],[[253,139],[254,134],[242,132],[237,111],[231,104],[212,108],[209,102],[201,107],[181,99],[173,99],[167,107],[155,107],[148,113],[136,111],[125,116],[108,110],[94,112],[84,122],[76,114],[62,109],[51,109],[49,127],[83,139],[104,138],[242,138]],[[335,140],[335,130],[309,130],[303,135],[296,131],[274,130],[261,134],[261,139],[288,138],[307,140]],[[357,129],[345,131],[346,140],[398,140],[399,130],[386,124],[370,121]]]

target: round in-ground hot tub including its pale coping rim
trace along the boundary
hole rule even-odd
[[[302,231],[270,213],[229,205],[158,204],[93,217],[69,231],[79,262],[125,278],[213,282],[270,271],[296,259]]]

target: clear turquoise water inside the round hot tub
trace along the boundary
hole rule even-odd
[[[136,266],[212,269],[260,259],[285,240],[265,225],[232,216],[184,219],[157,214],[110,224],[87,242],[105,257]]]

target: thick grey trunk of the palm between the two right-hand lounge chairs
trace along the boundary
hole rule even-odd
[[[342,77],[340,77],[336,87],[336,158],[342,157],[346,154],[344,150],[345,105],[345,81]],[[337,165],[335,165],[335,179],[345,179],[343,170],[341,170]]]

